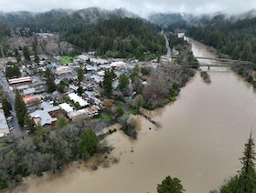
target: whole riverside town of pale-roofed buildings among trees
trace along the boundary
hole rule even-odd
[[[35,38],[48,39],[55,36],[53,34],[43,33],[37,34]],[[177,36],[177,35],[176,35]],[[184,33],[181,33],[176,38],[183,38]],[[167,47],[168,48],[168,47]],[[23,50],[24,51],[24,50]],[[101,112],[104,112],[106,104],[112,101],[106,101],[103,95],[104,88],[102,86],[105,72],[112,71],[112,95],[121,96],[123,100],[132,103],[132,96],[136,92],[131,91],[129,78],[125,83],[123,92],[120,93],[120,76],[125,75],[127,78],[133,74],[133,68],[139,67],[144,69],[144,74],[139,73],[141,84],[147,84],[148,74],[150,69],[156,69],[161,64],[174,64],[171,56],[178,56],[179,52],[173,47],[168,56],[142,62],[136,59],[126,60],[122,58],[101,58],[95,56],[95,52],[85,53],[79,56],[50,56],[46,55],[27,56],[20,51],[18,67],[19,73],[14,76],[7,77],[6,69],[11,68],[14,71],[17,64],[16,57],[1,58],[1,82],[7,91],[12,107],[15,107],[14,98],[16,91],[22,96],[22,99],[27,108],[28,117],[32,120],[32,127],[41,126],[45,129],[53,129],[59,117],[65,118],[67,122],[77,121],[90,117],[99,117]],[[35,58],[37,57],[37,63]],[[137,70],[137,69],[135,69]],[[46,77],[46,72],[52,79]],[[80,75],[79,75],[80,74]],[[80,76],[80,77],[79,77]],[[49,80],[52,80],[51,82]],[[129,90],[130,89],[130,90]],[[129,93],[130,92],[130,93]],[[131,93],[132,92],[132,93]],[[16,113],[6,113],[2,109],[1,137],[5,137],[12,130],[20,127],[16,123]],[[123,113],[122,113],[123,115]],[[108,117],[107,117],[108,119]],[[17,128],[16,128],[16,127]],[[108,126],[108,125],[107,125]],[[22,130],[30,132],[27,124],[22,124]],[[32,128],[33,129],[33,128]],[[103,127],[96,130],[97,134],[102,134]]]

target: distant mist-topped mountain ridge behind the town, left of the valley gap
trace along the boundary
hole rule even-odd
[[[99,20],[111,18],[138,18],[127,10],[120,8],[112,11],[96,7],[81,10],[53,9],[44,13],[12,12],[0,13],[0,22],[10,27],[29,27],[33,31],[65,31],[73,23],[92,24]]]

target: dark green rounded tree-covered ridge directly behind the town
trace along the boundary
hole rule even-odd
[[[144,59],[145,54],[160,56],[165,39],[155,25],[135,18],[113,18],[90,26],[74,25],[64,36],[71,44],[98,55]]]

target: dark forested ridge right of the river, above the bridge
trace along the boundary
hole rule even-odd
[[[217,15],[190,27],[188,35],[233,59],[256,62],[256,17],[233,21]]]

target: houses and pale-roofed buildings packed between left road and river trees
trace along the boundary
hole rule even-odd
[[[42,56],[40,56],[42,58]],[[44,56],[46,58],[46,56]],[[103,81],[106,69],[115,68],[117,78],[113,82],[113,88],[118,86],[118,77],[123,73],[129,73],[137,61],[125,63],[122,59],[101,59],[90,54],[80,55],[72,62],[65,65],[58,65],[56,62],[48,62],[42,59],[38,64],[22,66],[22,76],[8,79],[9,86],[17,89],[23,96],[27,105],[27,111],[35,125],[45,128],[54,127],[60,116],[75,121],[80,118],[94,117],[99,115],[103,109],[102,101],[99,98],[99,84]],[[84,81],[80,84],[83,87],[83,94],[79,96],[77,90],[77,69],[83,66]],[[46,79],[43,72],[50,68],[55,74],[55,83],[61,80],[72,80],[67,87],[67,92],[60,94],[58,91],[46,93]],[[58,99],[60,98],[60,99]],[[75,104],[75,105],[74,105]],[[1,113],[1,112],[0,112]]]

